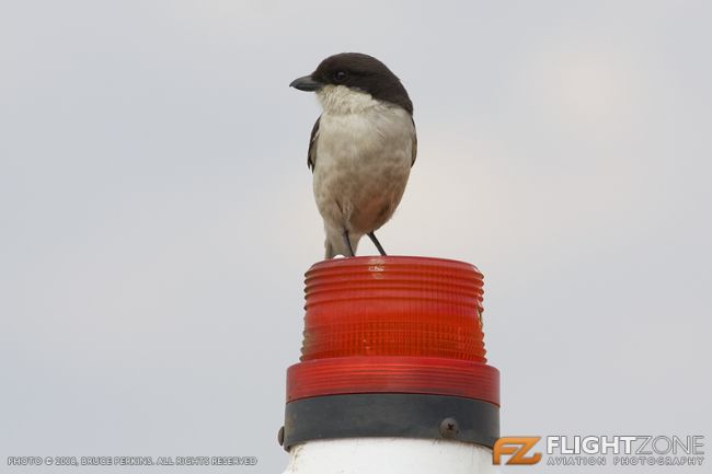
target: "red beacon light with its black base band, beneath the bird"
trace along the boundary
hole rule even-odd
[[[404,437],[492,447],[499,373],[486,365],[483,276],[462,262],[352,257],[306,275],[300,362],[287,371],[285,449]]]

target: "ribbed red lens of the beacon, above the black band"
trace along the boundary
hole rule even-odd
[[[498,404],[485,365],[483,278],[426,257],[354,257],[307,273],[301,363],[287,401],[343,393],[428,393]]]

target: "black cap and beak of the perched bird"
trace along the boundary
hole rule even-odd
[[[360,53],[330,56],[314,72],[295,79],[290,86],[300,91],[319,91],[324,85],[343,85],[366,92],[374,99],[400,105],[413,114],[413,103],[401,81],[384,63]]]

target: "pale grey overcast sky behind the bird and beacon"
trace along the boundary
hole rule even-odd
[[[708,435],[709,452],[710,24],[704,1],[1,0],[0,471],[285,467],[323,255],[319,107],[287,84],[341,51],[414,102],[418,159],[379,238],[484,273],[503,435]]]

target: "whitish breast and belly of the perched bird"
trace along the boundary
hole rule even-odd
[[[328,85],[317,139],[314,197],[326,227],[364,234],[398,207],[412,164],[413,120],[402,107]]]

